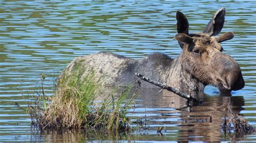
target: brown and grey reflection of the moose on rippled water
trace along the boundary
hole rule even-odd
[[[163,90],[160,94],[158,91],[145,89],[139,92],[142,94],[140,97],[142,100],[138,102],[141,105],[139,108],[158,109],[157,111],[146,111],[146,124],[166,126],[167,131],[173,130],[169,129],[169,125],[178,124],[181,126],[178,131],[178,140],[182,141],[196,139],[219,141],[221,135],[224,135],[221,133],[224,117],[227,119],[231,117],[229,109],[232,109],[233,113],[239,113],[244,110],[242,106],[245,105],[242,96],[209,96],[203,92],[194,92],[192,94],[204,103],[199,106],[187,106],[186,99],[167,90]],[[161,110],[163,108],[176,110]],[[152,113],[160,114],[160,116],[149,116]],[[174,120],[172,120],[173,118]],[[168,136],[168,133],[164,134]]]

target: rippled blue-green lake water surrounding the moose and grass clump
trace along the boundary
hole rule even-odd
[[[126,1],[126,2],[0,2],[0,141],[230,141],[220,128],[227,117],[227,103],[256,127],[256,3],[253,1]],[[184,106],[176,96],[140,97],[134,119],[145,119],[150,130],[117,136],[97,132],[86,134],[31,131],[30,117],[23,108],[28,94],[46,75],[46,93],[51,95],[56,77],[73,58],[109,51],[139,59],[152,52],[172,58],[181,49],[174,40],[176,11],[185,13],[190,32],[203,31],[219,8],[226,8],[222,32],[234,32],[223,42],[224,53],[239,63],[246,85],[231,97],[220,96],[218,89],[206,87],[199,93],[201,106]],[[213,122],[209,122],[212,114]],[[207,121],[206,121],[207,120]],[[163,135],[156,133],[163,126]],[[251,134],[241,139],[255,141]]]

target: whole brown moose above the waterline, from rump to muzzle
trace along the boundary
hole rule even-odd
[[[223,28],[225,9],[215,12],[202,33],[188,32],[185,15],[177,11],[177,31],[175,39],[182,52],[176,59],[163,53],[153,53],[143,59],[135,60],[110,52],[78,57],[60,75],[70,74],[75,67],[84,68],[81,80],[93,69],[95,77],[103,86],[131,85],[139,80],[135,73],[143,74],[151,80],[187,91],[203,91],[208,84],[220,91],[242,89],[245,85],[238,63],[229,55],[222,53],[220,43],[233,38],[232,32],[218,35]],[[95,78],[95,80],[97,80]],[[158,88],[141,81],[143,88]]]

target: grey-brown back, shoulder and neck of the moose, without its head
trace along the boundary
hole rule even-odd
[[[93,69],[96,80],[100,79],[100,84],[106,87],[118,86],[127,87],[139,80],[134,73],[143,74],[152,80],[168,83],[173,88],[184,90],[203,90],[204,86],[198,84],[196,79],[180,66],[178,59],[171,59],[163,53],[153,53],[143,59],[134,60],[125,56],[117,55],[111,52],[100,52],[73,60],[60,75],[69,75],[77,63],[82,63],[80,69],[85,69],[82,78],[85,77],[90,69]],[[173,69],[173,70],[170,70]],[[158,88],[145,81],[142,81],[143,88]],[[171,82],[169,82],[171,81]],[[190,82],[188,85],[184,83]]]

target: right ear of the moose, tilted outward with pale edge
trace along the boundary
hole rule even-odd
[[[207,24],[203,33],[207,33],[210,36],[218,35],[223,28],[225,20],[225,9],[221,8],[213,15],[212,20]]]

